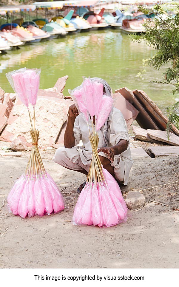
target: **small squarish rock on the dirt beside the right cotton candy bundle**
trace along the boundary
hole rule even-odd
[[[146,203],[145,196],[139,191],[129,191],[125,202],[129,209],[140,208]]]

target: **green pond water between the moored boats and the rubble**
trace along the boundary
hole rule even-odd
[[[82,82],[82,76],[105,79],[113,91],[128,87],[144,90],[166,113],[168,105],[175,102],[170,92],[172,87],[154,84],[164,71],[146,67],[143,79],[136,78],[142,68],[142,59],[150,58],[155,51],[145,44],[133,43],[118,30],[90,31],[68,35],[50,41],[25,45],[20,50],[11,50],[0,55],[0,87],[12,91],[5,73],[21,67],[41,68],[43,89],[53,87],[59,77],[69,75],[64,90],[73,89]]]

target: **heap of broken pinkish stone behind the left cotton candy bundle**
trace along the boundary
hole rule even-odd
[[[72,101],[65,99],[63,90],[68,76],[59,78],[55,86],[39,90],[36,104],[36,126],[40,130],[38,146],[47,148],[58,143],[59,133],[67,121]],[[29,107],[31,115],[33,108]],[[0,140],[10,142],[11,149],[23,151],[31,147],[30,121],[27,108],[16,94],[0,89]]]

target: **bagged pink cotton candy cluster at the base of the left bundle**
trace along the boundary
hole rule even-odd
[[[47,173],[39,178],[22,175],[7,197],[9,210],[14,215],[43,216],[64,209],[64,199],[58,186]]]

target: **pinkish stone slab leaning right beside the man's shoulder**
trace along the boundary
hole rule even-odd
[[[126,98],[121,95],[121,93],[114,93],[113,98],[115,100],[115,107],[119,109],[122,114],[124,115],[127,129],[130,129],[130,126],[132,125],[133,121],[136,119],[139,111],[135,109],[132,104],[129,103],[129,101],[126,100]]]

